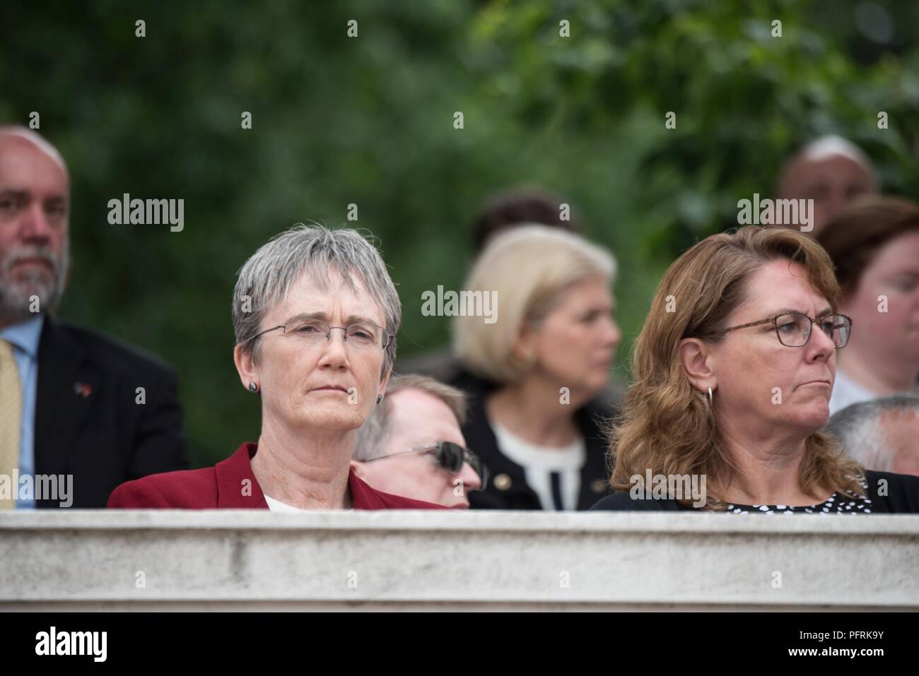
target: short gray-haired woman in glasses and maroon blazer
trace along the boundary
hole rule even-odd
[[[108,506],[439,508],[373,490],[349,467],[355,431],[386,390],[401,316],[380,254],[356,231],[300,225],[267,242],[233,291],[233,361],[261,400],[258,443],[212,468],[129,481]]]

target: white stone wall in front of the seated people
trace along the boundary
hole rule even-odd
[[[0,551],[2,610],[919,609],[905,515],[61,510]]]

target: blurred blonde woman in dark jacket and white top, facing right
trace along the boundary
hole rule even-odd
[[[470,394],[463,435],[493,477],[473,509],[586,510],[607,493],[607,388],[620,333],[616,265],[571,232],[527,225],[498,234],[466,289],[497,314],[457,318],[454,347]]]

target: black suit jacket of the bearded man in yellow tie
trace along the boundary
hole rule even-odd
[[[137,403],[143,388],[145,403]],[[152,357],[46,317],[39,341],[35,473],[72,474],[72,509],[104,508],[129,479],[188,467],[176,374]],[[58,501],[37,501],[43,509]]]

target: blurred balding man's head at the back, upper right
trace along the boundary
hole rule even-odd
[[[839,136],[805,145],[785,163],[778,179],[779,199],[813,199],[811,237],[848,202],[877,191],[868,155]]]

